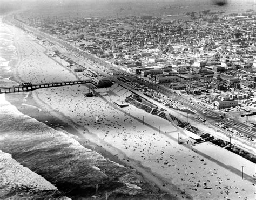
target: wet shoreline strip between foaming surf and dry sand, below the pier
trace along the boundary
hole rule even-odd
[[[109,147],[109,149],[106,149],[104,147],[99,146],[96,142],[92,142],[92,141],[86,139],[86,137],[84,135],[81,135],[79,133],[79,130],[82,131],[82,127],[79,127],[79,125],[76,125],[73,122],[72,122],[73,125],[70,125],[70,124],[66,123],[66,120],[63,120],[62,117],[59,117],[59,118],[56,117],[55,116],[55,115],[57,115],[56,111],[52,111],[52,113],[55,113],[55,115],[52,115],[52,114],[50,115],[49,113],[43,111],[43,107],[40,106],[38,104],[38,102],[35,100],[35,98],[33,98],[31,96],[32,96],[32,94],[29,92],[28,96],[26,97],[26,100],[27,100],[26,104],[35,106],[35,107],[28,108],[28,106],[25,106],[26,107],[25,109],[21,108],[22,104],[18,105],[17,103],[14,103],[14,101],[12,99],[10,99],[9,97],[7,97],[7,98],[5,97],[5,98],[6,98],[6,101],[8,101],[12,105],[14,105],[18,109],[18,111],[22,112],[24,115],[28,115],[31,118],[34,118],[34,119],[38,120],[39,122],[42,122],[45,125],[53,128],[57,131],[63,132],[64,134],[69,133],[68,134],[69,137],[76,139],[85,148],[88,148],[92,151],[96,151],[100,155],[104,156],[104,158],[109,159],[110,161],[116,162],[119,165],[122,165],[126,168],[134,169],[136,174],[143,178],[142,181],[147,182],[147,183],[150,182],[150,185],[152,188],[157,188],[157,189],[155,189],[156,191],[162,190],[163,192],[167,192],[171,196],[173,196],[174,193],[177,193],[177,194],[182,193],[181,190],[176,189],[176,187],[177,187],[176,185],[170,185],[170,187],[172,189],[174,187],[174,191],[173,190],[170,191],[170,189],[167,189],[166,186],[163,187],[163,185],[167,185],[167,181],[170,181],[170,180],[166,180],[164,177],[161,177],[159,174],[152,172],[149,167],[144,167],[140,161],[129,158],[123,152],[118,153],[118,156],[116,156],[116,154],[111,153],[111,151],[110,151],[110,149],[113,149],[112,151],[116,151],[116,149],[114,147],[111,147],[110,145],[106,145]],[[47,106],[49,106],[49,105],[47,105]],[[38,108],[42,109],[42,111],[39,111]],[[30,110],[32,110],[32,111],[30,111]],[[42,115],[42,113],[44,113],[44,114]],[[59,113],[58,113],[58,115],[59,115]],[[49,117],[51,117],[52,119],[49,120]],[[63,116],[63,117],[65,118],[66,116]],[[41,118],[41,119],[39,119],[39,118]],[[45,122],[44,118],[48,119],[47,122]],[[69,119],[69,120],[71,120],[71,119]],[[63,128],[60,128],[59,126],[62,126]],[[74,126],[77,126],[79,128],[76,129]],[[93,133],[89,133],[89,134],[90,134],[90,136],[93,135],[93,138],[96,137],[96,140],[97,139],[99,140],[97,135],[95,135]],[[79,137],[79,139],[77,137]],[[120,156],[120,155],[122,155],[122,156]],[[127,161],[127,160],[129,160],[129,161]],[[187,196],[187,198],[191,199],[191,197],[189,195]]]

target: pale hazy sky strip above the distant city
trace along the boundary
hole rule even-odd
[[[198,9],[212,9],[212,5],[214,5],[215,1],[226,1],[227,4],[224,6],[224,10],[241,10],[242,7],[244,9],[256,9],[255,8],[255,1],[256,0],[0,0],[0,15],[8,13],[10,11],[16,11],[18,9],[28,9],[32,8],[33,6],[37,6],[37,8],[43,8],[52,6],[54,8],[58,8],[59,5],[63,6],[63,9],[68,9],[69,6],[74,8],[78,6],[79,9],[88,10],[103,10],[109,9],[114,10],[118,8],[120,9],[125,8],[126,6],[136,10],[138,8],[150,8],[151,10],[155,8],[159,9],[160,6],[186,6],[187,10],[189,11],[189,6],[191,6],[192,11]],[[156,4],[154,7],[153,5]],[[41,6],[44,5],[44,6]],[[55,5],[55,6],[54,6]],[[57,7],[56,7],[57,6]],[[80,7],[79,7],[80,6]],[[100,8],[102,7],[102,8]],[[158,7],[158,8],[157,8]],[[220,8],[220,7],[219,7]],[[215,7],[215,9],[218,9]],[[73,9],[76,10],[77,9]],[[114,11],[117,11],[114,10]],[[179,10],[173,10],[173,12],[184,12]],[[55,12],[55,11],[54,11]],[[240,11],[242,12],[242,11]],[[134,13],[135,14],[135,13]],[[139,13],[136,13],[136,15]],[[146,14],[146,13],[144,13]]]

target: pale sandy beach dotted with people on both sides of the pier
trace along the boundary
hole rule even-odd
[[[20,58],[17,67],[12,68],[16,80],[31,83],[76,80],[73,73],[49,58],[46,54],[49,46],[43,47],[36,38],[17,28],[12,30]],[[186,135],[172,122],[131,104],[122,109],[110,104],[110,100],[124,101],[125,95],[107,91],[109,95],[103,98],[85,97],[88,91],[87,85],[73,85],[38,89],[31,92],[31,97],[39,109],[75,127],[78,134],[74,138],[80,144],[94,142],[126,167],[136,169],[160,190],[177,198],[254,199],[253,183],[242,180],[241,175],[232,170],[240,170],[246,163],[245,173],[253,176],[252,162],[218,147],[218,155],[232,157],[231,161],[219,165],[208,157],[216,152],[212,145],[203,148],[179,145],[178,133],[181,138]],[[204,152],[204,148],[207,148],[207,158],[197,153]]]

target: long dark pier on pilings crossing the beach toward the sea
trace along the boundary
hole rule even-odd
[[[40,88],[51,88],[60,87],[65,85],[77,85],[91,83],[91,80],[80,80],[80,81],[63,81],[63,82],[53,82],[53,83],[39,83],[39,84],[24,84],[21,86],[0,88],[0,93],[14,93],[14,92],[27,92]]]

